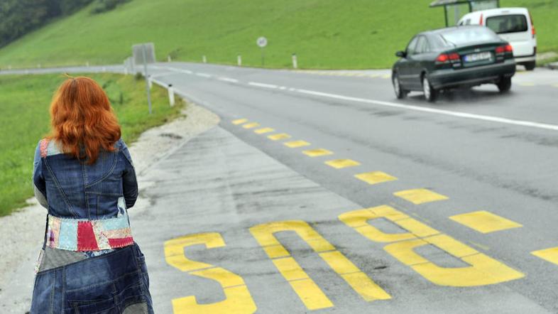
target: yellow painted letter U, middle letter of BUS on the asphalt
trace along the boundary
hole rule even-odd
[[[307,222],[302,220],[269,222],[251,227],[250,232],[253,237],[263,247],[275,267],[309,310],[330,308],[333,303],[273,235],[275,232],[283,231],[296,232],[364,300],[374,301],[391,298],[346,256],[337,251],[332,244],[312,229]]]

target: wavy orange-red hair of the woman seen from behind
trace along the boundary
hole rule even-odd
[[[70,156],[95,163],[99,151],[114,151],[121,131],[109,97],[89,77],[70,77],[58,87],[50,104],[50,139]]]

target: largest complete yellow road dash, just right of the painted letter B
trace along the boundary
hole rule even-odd
[[[454,215],[449,217],[449,219],[459,222],[460,224],[481,233],[490,233],[505,229],[523,227],[523,225],[518,224],[517,222],[494,215],[493,213],[485,210]]]

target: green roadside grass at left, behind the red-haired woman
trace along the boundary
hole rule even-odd
[[[148,114],[145,81],[131,75],[89,75],[104,86],[128,144],[146,129],[180,114],[169,107],[167,92],[153,85],[153,114]],[[49,131],[50,99],[62,75],[0,76],[0,216],[25,205],[33,195],[31,175],[37,142]]]

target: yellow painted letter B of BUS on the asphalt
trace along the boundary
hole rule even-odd
[[[384,218],[406,229],[408,232],[390,234],[381,232],[368,224],[368,220]],[[354,210],[339,215],[339,220],[373,242],[394,242],[384,247],[385,251],[410,266],[418,274],[440,286],[486,286],[503,283],[525,275],[485,254],[463,244],[452,237],[440,234],[422,222],[395,210],[390,206]],[[455,256],[471,266],[442,267],[417,254],[414,249],[433,245],[447,254]]]

